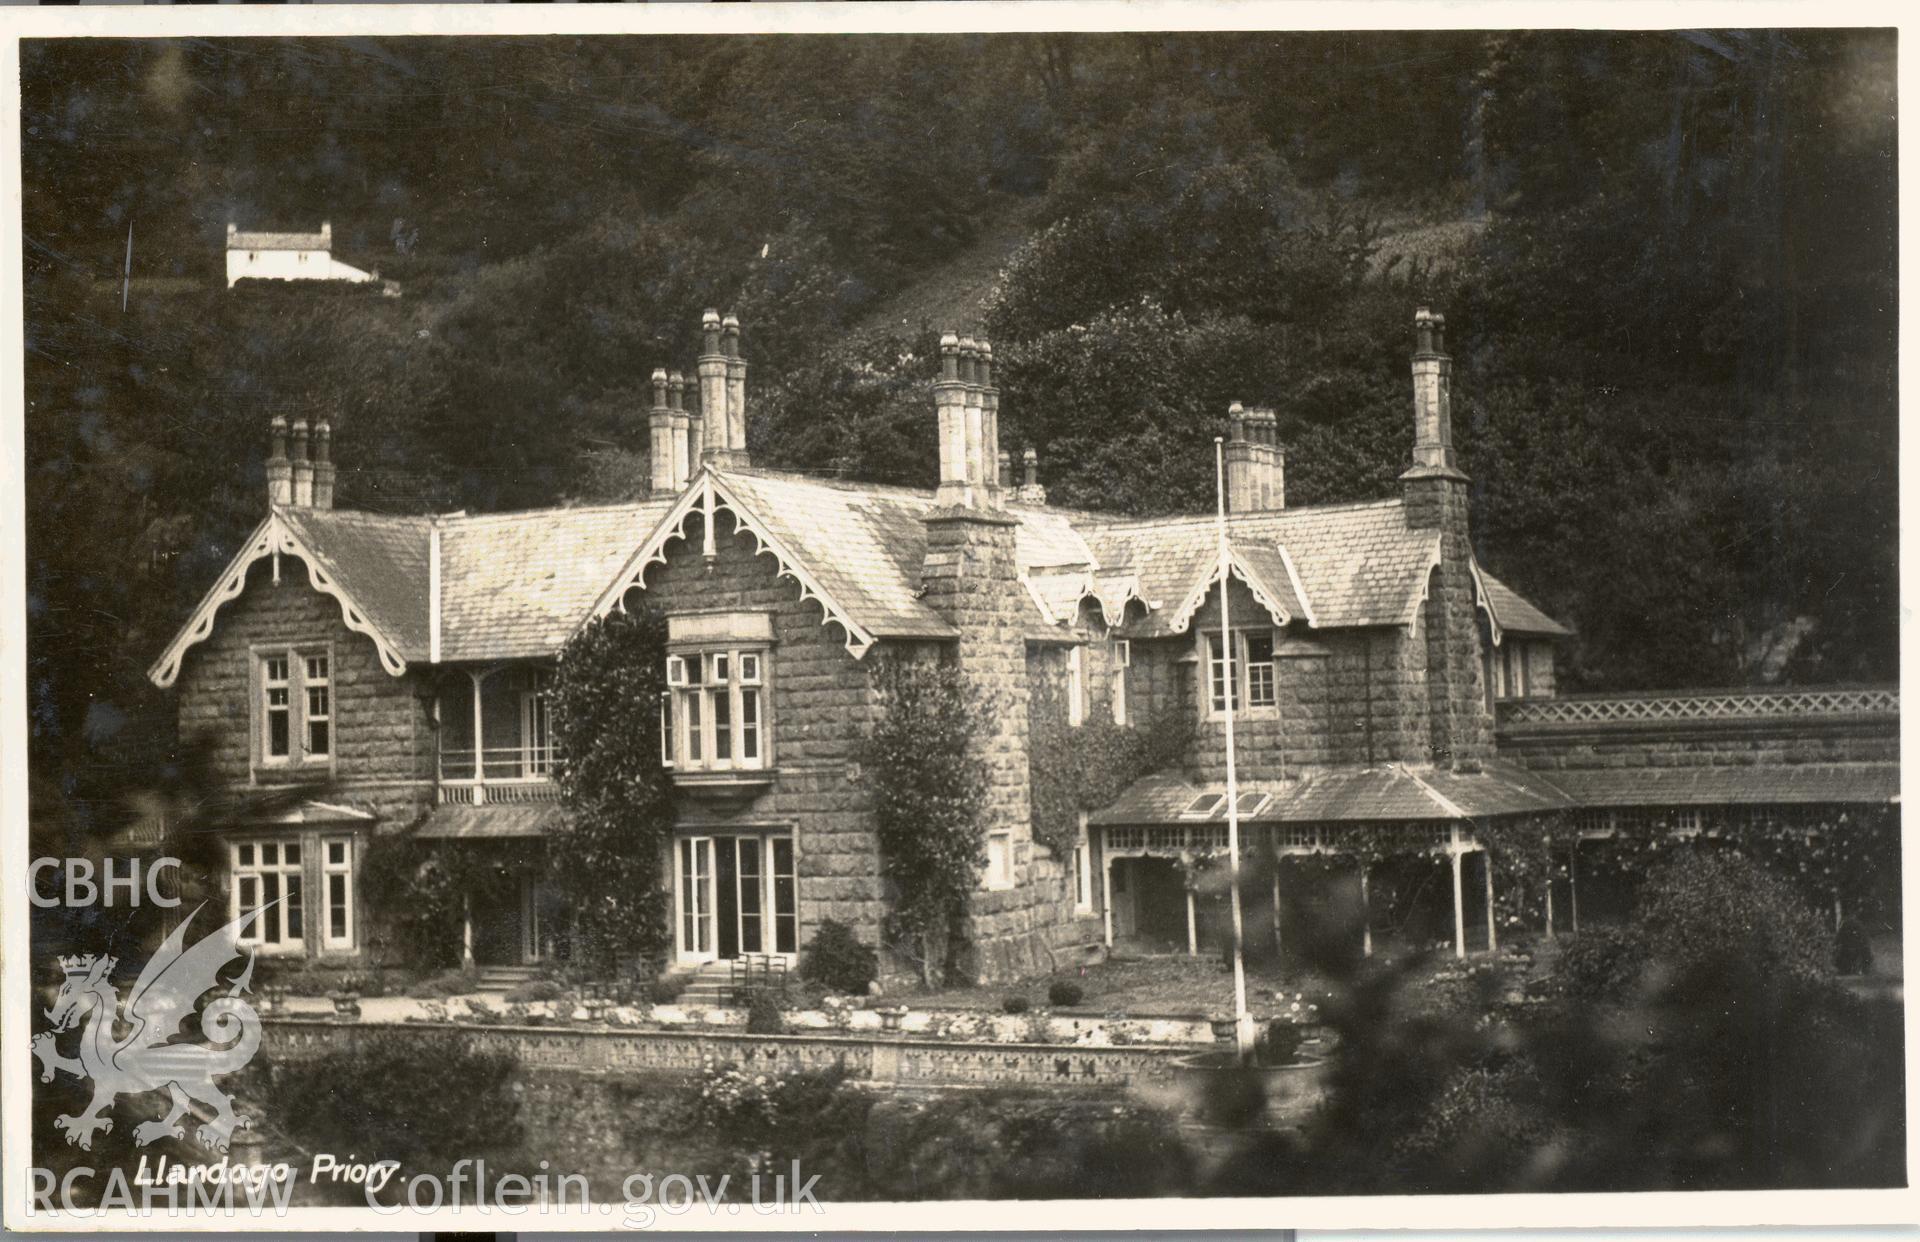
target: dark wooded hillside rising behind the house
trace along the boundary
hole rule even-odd
[[[931,482],[929,342],[983,321],[1054,495],[1165,513],[1233,399],[1281,409],[1290,503],[1390,495],[1428,299],[1480,559],[1578,630],[1565,687],[1893,678],[1891,67],[1874,31],[29,44],[36,812],[165,776],[142,672],[259,520],[271,413],[332,418],[342,505],[624,497],[705,305],[766,465]],[[221,288],[227,219],[321,217],[403,298]]]

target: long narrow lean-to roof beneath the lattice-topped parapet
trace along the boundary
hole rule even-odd
[[[1582,806],[1768,806],[1901,800],[1899,764],[1768,764],[1751,768],[1594,768],[1553,772]]]

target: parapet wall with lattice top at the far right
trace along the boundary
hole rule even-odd
[[[1536,770],[1899,762],[1899,689],[1580,695],[1500,705],[1500,752]]]

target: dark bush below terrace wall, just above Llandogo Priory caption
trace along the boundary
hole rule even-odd
[[[317,1152],[380,1152],[403,1167],[513,1148],[518,1060],[453,1031],[405,1031],[276,1067],[276,1115]],[[278,1111],[284,1106],[284,1111]]]

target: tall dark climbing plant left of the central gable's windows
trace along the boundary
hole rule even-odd
[[[660,860],[674,824],[674,783],[660,764],[666,620],[611,612],[561,651],[553,733],[564,824],[547,837],[547,875],[572,914],[574,960],[612,969],[659,958],[668,937]]]

